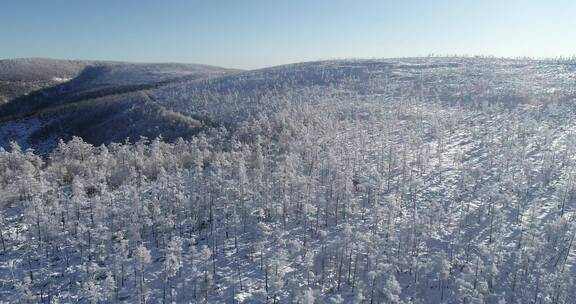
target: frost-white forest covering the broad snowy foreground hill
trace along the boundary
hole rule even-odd
[[[0,303],[576,298],[573,59],[309,63],[141,94],[203,127],[0,148]]]

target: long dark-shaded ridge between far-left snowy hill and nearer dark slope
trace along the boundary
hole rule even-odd
[[[25,66],[27,66],[27,61],[25,63]],[[49,63],[57,65],[58,61],[49,61]],[[149,89],[172,81],[216,77],[235,71],[233,69],[197,64],[143,64],[106,61],[86,61],[82,63],[85,64],[83,69],[75,75],[72,73],[60,73],[60,70],[66,69],[67,61],[62,62],[65,66],[64,68],[56,69],[53,74],[48,72],[43,73],[41,76],[37,74],[39,75],[37,77],[45,79],[49,77],[54,79],[56,75],[58,77],[74,77],[68,77],[67,80],[69,81],[56,81],[53,86],[16,97],[12,102],[0,106],[0,117],[27,114],[46,107],[84,99]],[[13,78],[20,77],[18,76],[20,71],[14,70],[14,72],[16,74],[12,76]]]

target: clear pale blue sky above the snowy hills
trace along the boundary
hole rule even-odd
[[[333,58],[576,54],[575,0],[0,0],[0,58],[256,68]]]

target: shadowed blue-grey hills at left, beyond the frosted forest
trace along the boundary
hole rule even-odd
[[[65,74],[71,65],[81,71]],[[198,64],[40,59],[5,60],[0,67],[8,67],[0,72],[0,79],[10,79],[0,81],[0,95],[4,83],[14,93],[6,94],[5,104],[0,100],[0,134],[4,135],[0,147],[8,148],[15,141],[40,153],[53,150],[59,138],[72,136],[97,145],[160,134],[170,140],[189,137],[198,132],[201,123],[151,103],[141,91],[238,72]],[[28,87],[19,91],[19,85]],[[17,98],[7,102],[9,96]],[[34,127],[28,127],[29,122],[34,122]]]

